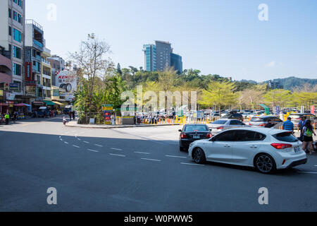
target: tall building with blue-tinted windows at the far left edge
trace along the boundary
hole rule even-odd
[[[11,85],[10,93],[15,95],[15,100],[23,101],[23,75],[24,75],[24,37],[25,37],[25,1],[1,0],[0,1],[0,49],[6,53],[12,65],[11,78],[4,78],[0,74],[0,83],[15,83]],[[4,61],[4,60],[3,60]],[[0,65],[1,67],[1,65]]]

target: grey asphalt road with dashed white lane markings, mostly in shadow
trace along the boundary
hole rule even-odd
[[[196,165],[180,153],[178,129],[80,129],[61,118],[0,126],[0,211],[317,210],[316,155],[273,175]],[[46,203],[50,187],[57,205]]]

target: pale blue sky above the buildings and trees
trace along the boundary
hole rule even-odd
[[[184,69],[266,81],[317,78],[316,0],[25,0],[26,18],[44,28],[46,46],[67,59],[94,32],[121,67],[144,66],[143,44],[172,43]],[[56,20],[49,20],[49,4]],[[259,5],[268,6],[260,21]]]

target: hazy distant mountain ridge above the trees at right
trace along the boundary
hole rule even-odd
[[[297,78],[297,77],[288,77],[288,78],[276,78],[273,79],[273,81],[279,82],[281,85],[284,86],[285,90],[292,90],[293,88],[299,86],[299,85],[304,85],[305,83],[309,83],[310,85],[314,86],[317,85],[317,79],[313,78]],[[268,83],[268,81],[257,83],[256,81],[253,80],[242,80],[242,82],[247,82],[247,83],[253,83],[253,84],[264,84]]]

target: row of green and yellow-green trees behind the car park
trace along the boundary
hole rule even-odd
[[[73,63],[80,68],[75,105],[87,112],[89,117],[92,112],[100,112],[101,105],[105,103],[120,108],[124,102],[120,100],[120,94],[126,90],[136,93],[137,85],[143,86],[143,94],[154,91],[157,96],[160,91],[187,91],[189,95],[191,91],[196,91],[201,108],[252,109],[259,108],[262,103],[270,107],[304,105],[309,108],[317,102],[317,85],[302,85],[291,92],[268,90],[266,85],[232,82],[218,75],[201,75],[199,70],[194,69],[185,70],[181,74],[173,69],[155,72],[133,66],[121,69],[120,64],[115,67],[108,58],[110,53],[109,45],[92,34],[80,44],[79,52],[70,56]]]

